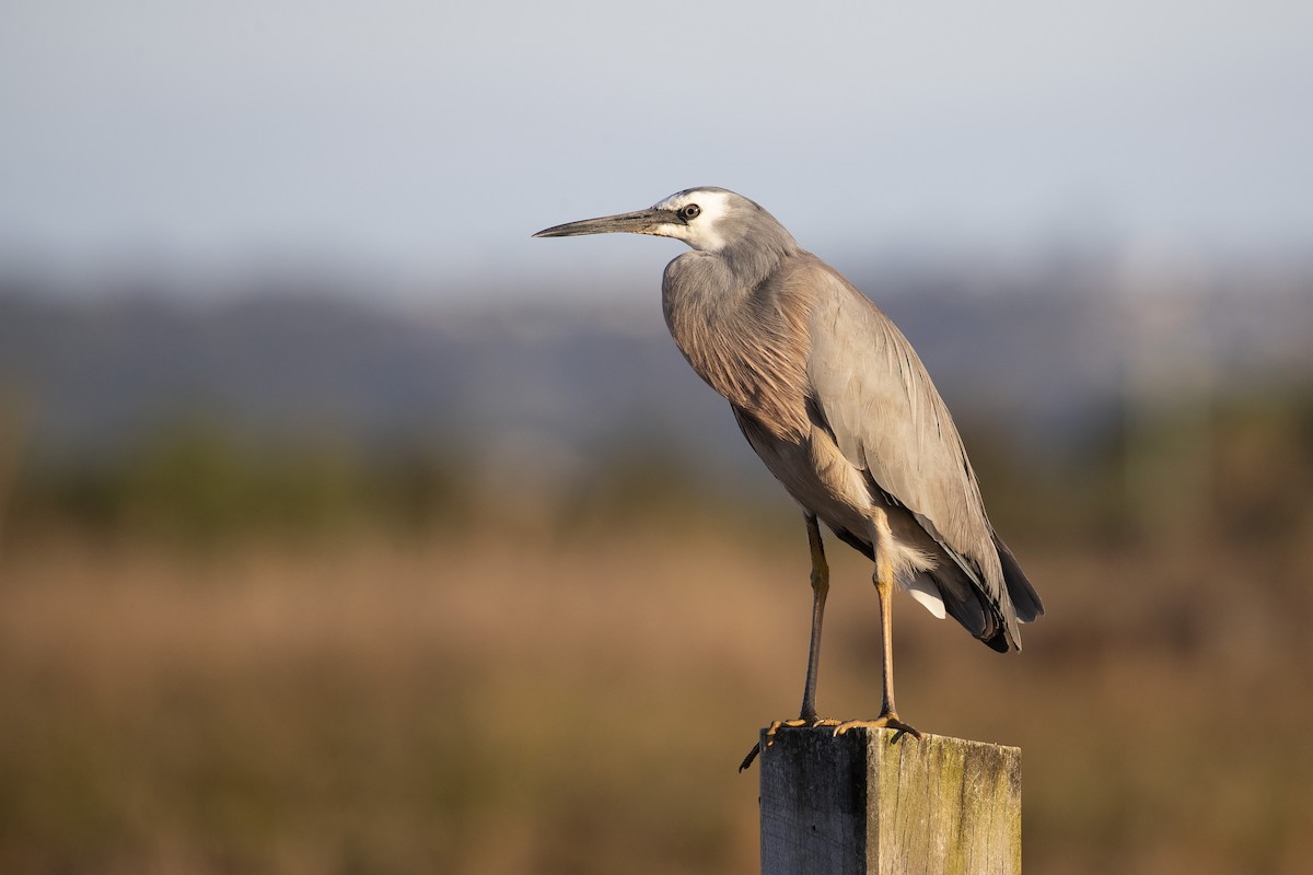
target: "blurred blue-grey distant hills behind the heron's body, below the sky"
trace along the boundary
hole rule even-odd
[[[1128,392],[1313,375],[1313,272],[1190,289],[1090,269],[855,279],[878,290],[960,421],[1028,449],[1081,439]],[[205,304],[74,299],[0,282],[0,399],[28,411],[29,441],[53,457],[113,453],[201,417],[252,441],[429,442],[520,466],[635,445],[752,464],[667,337],[655,290],[637,308],[402,314],[362,300],[257,289]]]

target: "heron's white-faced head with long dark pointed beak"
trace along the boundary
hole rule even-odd
[[[685,189],[646,210],[558,224],[533,236],[574,237],[617,231],[675,237],[700,252],[720,252],[756,234],[788,236],[775,216],[755,202],[714,186]]]

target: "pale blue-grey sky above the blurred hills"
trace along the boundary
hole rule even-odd
[[[1310,45],[1306,0],[9,0],[0,258],[601,291],[679,244],[528,235],[689,185],[840,265],[1299,251]]]

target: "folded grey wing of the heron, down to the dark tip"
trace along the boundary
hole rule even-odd
[[[806,272],[815,290],[807,376],[825,425],[844,458],[867,474],[873,488],[905,506],[957,565],[939,575],[941,589],[958,590],[945,593],[945,603],[957,601],[973,613],[976,600],[968,588],[974,588],[993,609],[983,617],[957,618],[978,636],[997,639],[1004,632],[1019,645],[1011,581],[976,474],[920,358],[893,321],[836,272],[819,260]],[[1024,576],[1018,586],[1033,596]],[[995,621],[1002,621],[1002,630]]]

